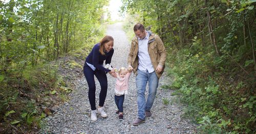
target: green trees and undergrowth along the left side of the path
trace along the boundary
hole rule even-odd
[[[16,126],[39,128],[45,115],[38,105],[50,107],[67,100],[72,87],[58,73],[63,66],[58,59],[68,54],[84,60],[91,42],[105,33],[102,15],[107,4],[103,0],[0,2],[0,120],[6,133],[17,132]],[[81,68],[73,60],[66,66]]]

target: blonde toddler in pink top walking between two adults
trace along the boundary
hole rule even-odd
[[[118,108],[116,114],[119,114],[119,120],[123,120],[123,100],[124,95],[128,93],[128,84],[129,78],[132,74],[132,67],[124,68],[121,67],[118,70],[118,73],[113,73],[113,76],[116,77],[115,85],[115,102]]]

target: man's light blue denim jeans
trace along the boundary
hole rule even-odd
[[[145,119],[145,111],[150,111],[156,97],[158,80],[156,72],[143,72],[138,69],[136,76],[137,87],[137,103],[138,103],[138,116],[140,119]],[[145,101],[145,90],[148,82],[148,97]]]

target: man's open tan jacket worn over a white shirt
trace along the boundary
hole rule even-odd
[[[148,43],[147,43],[147,50],[148,50],[148,54],[150,55],[151,63],[155,69],[155,72],[158,65],[161,65],[164,70],[165,60],[166,60],[166,49],[163,45],[163,42],[158,35],[151,33],[151,31],[147,31],[147,32],[148,34],[150,34]],[[127,61],[128,61],[128,65],[131,65],[133,67],[133,72],[136,75],[137,75],[138,64],[139,64],[138,50],[139,50],[138,38],[134,37],[132,39],[132,45],[130,48]],[[162,75],[163,70],[160,73],[156,72],[158,78]]]

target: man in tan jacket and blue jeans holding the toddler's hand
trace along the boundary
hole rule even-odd
[[[156,96],[158,81],[164,70],[166,49],[158,35],[146,31],[141,23],[134,25],[135,37],[132,39],[128,56],[129,67],[136,74],[138,118],[133,125],[145,122],[151,116],[151,108]],[[148,97],[145,102],[145,89],[148,82]]]

